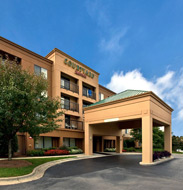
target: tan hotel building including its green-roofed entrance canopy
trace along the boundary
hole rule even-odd
[[[28,150],[78,146],[86,155],[116,147],[121,153],[128,129],[142,128],[142,164],[151,164],[153,127],[164,126],[164,149],[172,152],[173,109],[151,91],[126,90],[119,94],[99,84],[99,73],[55,48],[46,57],[0,37],[0,62],[16,61],[32,73],[43,73],[47,95],[59,97],[64,112],[60,128],[34,142],[18,133],[18,154]]]

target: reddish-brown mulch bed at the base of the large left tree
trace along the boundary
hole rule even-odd
[[[20,168],[30,165],[32,165],[32,163],[26,160],[0,160],[0,168]]]

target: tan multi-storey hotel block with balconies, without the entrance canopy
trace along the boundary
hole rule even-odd
[[[115,93],[99,84],[98,72],[57,48],[42,57],[0,37],[0,61],[15,59],[25,70],[44,73],[49,82],[47,95],[60,97],[64,112],[60,128],[41,134],[36,142],[27,133],[18,134],[18,153],[22,155],[28,150],[59,147],[63,144],[84,150],[83,108]],[[115,147],[115,140],[114,136],[96,136],[93,149],[103,151],[106,147]]]

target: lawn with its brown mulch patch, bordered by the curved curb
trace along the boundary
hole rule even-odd
[[[34,159],[26,159],[26,160],[1,160],[0,162],[7,163],[7,167],[2,167],[0,164],[0,177],[15,177],[29,174],[33,171],[33,169],[41,164],[46,162],[67,159],[67,158],[75,158],[75,156],[67,156],[67,157],[52,157],[52,158],[34,158]],[[13,164],[16,163],[14,167]],[[27,164],[24,166],[23,164]]]

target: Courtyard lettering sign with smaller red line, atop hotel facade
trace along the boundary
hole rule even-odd
[[[68,65],[69,67],[72,67],[73,69],[75,69],[75,74],[82,76],[84,78],[86,78],[86,76],[90,77],[90,78],[94,78],[94,74],[91,73],[90,71],[88,71],[87,69],[84,69],[83,67],[80,67],[79,65],[75,64],[72,61],[68,61],[67,59],[64,60],[64,63],[66,65]]]

